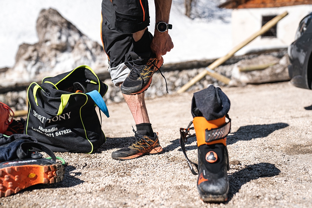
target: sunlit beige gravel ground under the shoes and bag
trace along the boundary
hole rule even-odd
[[[93,154],[56,153],[66,161],[63,181],[31,186],[0,199],[0,207],[311,207],[312,96],[289,82],[222,90],[231,100],[228,201],[204,203],[179,146],[179,128],[192,120],[193,92],[146,101],[164,152],[129,161],[111,152],[134,135],[125,103],[109,104],[107,142]],[[196,161],[196,139],[187,143]]]

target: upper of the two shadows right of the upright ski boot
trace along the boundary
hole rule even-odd
[[[241,126],[236,132],[233,132],[232,135],[227,136],[227,145],[234,144],[239,140],[248,141],[253,138],[267,137],[275,130],[285,128],[287,126],[289,126],[287,123]]]

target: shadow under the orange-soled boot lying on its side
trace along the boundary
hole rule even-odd
[[[26,189],[23,189],[22,191],[32,191],[35,189],[45,189],[45,188],[68,188],[68,187],[73,187],[73,186],[76,186],[78,184],[85,182],[75,177],[75,176],[81,175],[81,172],[72,172],[76,170],[76,167],[72,165],[65,165],[64,167],[65,167],[65,174],[64,174],[64,178],[62,181],[58,183],[52,183],[52,184],[37,184],[34,186],[30,186]],[[75,174],[75,176],[72,176],[73,174]]]

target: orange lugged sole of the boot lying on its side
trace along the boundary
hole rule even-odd
[[[29,186],[57,183],[64,178],[64,167],[52,165],[21,165],[0,169],[0,198],[10,196]]]

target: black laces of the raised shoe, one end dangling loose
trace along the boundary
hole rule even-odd
[[[150,53],[149,53],[150,55]],[[149,58],[149,55],[147,56]],[[130,60],[130,58],[132,60]],[[143,76],[141,75],[141,71],[143,70],[143,67],[142,65],[139,65],[138,63],[142,63],[142,61],[144,59],[147,59],[147,58],[142,58],[141,56],[137,55],[136,53],[131,53],[128,60],[127,60],[127,63],[131,66],[131,71],[129,73],[129,78],[131,80],[136,80],[138,77],[140,77],[143,81],[143,84],[144,84],[144,79],[143,79]],[[161,76],[163,77],[163,79],[165,79],[165,83],[166,83],[166,91],[168,93],[168,87],[167,87],[167,80],[165,78],[165,76],[163,75],[163,73],[161,73],[161,70],[154,64],[152,63],[153,66],[155,66],[157,68],[157,70],[160,72]],[[169,93],[168,93],[169,94]]]

